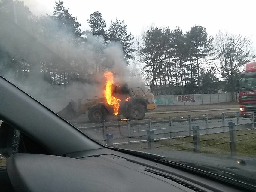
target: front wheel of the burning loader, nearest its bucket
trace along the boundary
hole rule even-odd
[[[88,111],[88,118],[91,123],[101,123],[107,119],[107,115],[108,111],[100,105],[93,106]]]

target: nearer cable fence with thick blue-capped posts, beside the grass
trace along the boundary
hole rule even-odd
[[[244,126],[249,125],[251,126],[252,123],[247,123],[247,124],[243,124]],[[231,155],[236,156],[237,155],[237,148],[236,148],[236,142],[239,141],[244,141],[244,140],[249,140],[249,139],[255,139],[256,138],[256,128],[245,128],[245,129],[240,129],[237,130],[237,126],[239,125],[235,125],[235,122],[229,122],[229,125],[226,126],[228,127],[228,131],[222,131],[222,132],[215,132],[215,133],[208,133],[208,134],[200,134],[200,126],[193,126],[193,134],[192,136],[180,136],[180,137],[172,137],[172,138],[164,138],[164,139],[154,139],[155,135],[159,135],[159,134],[154,134],[154,130],[147,130],[147,140],[144,141],[135,141],[135,142],[127,142],[127,143],[113,143],[113,134],[108,134],[111,135],[111,137],[107,137],[107,145],[108,146],[116,146],[116,147],[120,147],[120,146],[124,146],[124,145],[135,145],[135,144],[143,144],[143,143],[147,143],[148,147],[144,147],[143,149],[156,149],[156,148],[166,148],[166,147],[177,147],[177,146],[184,146],[184,145],[189,145],[190,147],[185,147],[185,148],[180,148],[177,150],[193,150],[193,152],[200,152],[201,148],[205,148],[205,147],[210,147],[210,146],[214,146],[214,145],[221,145],[221,144],[229,144],[230,145],[230,153]],[[213,128],[210,128],[213,129]],[[203,129],[205,130],[205,129]],[[184,130],[187,131],[187,130]],[[176,132],[171,132],[171,133],[181,133],[184,131],[176,131]],[[250,133],[243,133],[243,134],[237,134],[238,131],[253,131]],[[202,139],[203,136],[208,136],[208,135],[213,135],[213,134],[224,134],[224,133],[229,133],[228,136],[221,136],[221,137],[217,137],[217,138],[209,138],[209,139]],[[247,136],[247,135],[253,135],[253,137],[250,138],[244,138],[244,139],[239,139],[239,136]],[[128,138],[128,137],[125,137]],[[129,137],[129,138],[133,138],[133,137]],[[121,139],[121,138],[120,138]],[[186,140],[182,140],[182,139],[190,139],[190,141],[186,141]],[[218,141],[219,139],[229,139],[225,142],[215,142],[213,144],[208,144],[202,145],[202,142],[206,142],[206,141],[211,141],[211,140],[215,140]],[[174,140],[178,140],[178,142],[173,142]],[[172,141],[169,142],[169,144],[159,144],[160,142],[163,141]],[[142,148],[142,147],[139,147]]]

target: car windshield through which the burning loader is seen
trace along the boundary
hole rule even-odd
[[[246,182],[250,4],[0,0],[0,75],[103,146]]]

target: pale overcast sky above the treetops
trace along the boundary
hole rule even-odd
[[[117,17],[127,24],[128,32],[135,37],[151,23],[155,26],[174,28],[180,26],[186,32],[198,24],[206,27],[209,35],[219,30],[250,36],[256,47],[255,5],[256,1],[226,0],[154,0],[154,1],[113,1],[113,0],[63,0],[72,16],[82,24],[81,30],[90,29],[87,18],[94,11],[102,13],[109,26]],[[55,0],[24,0],[24,4],[37,15],[52,14]]]

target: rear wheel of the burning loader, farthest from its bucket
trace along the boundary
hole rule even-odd
[[[128,108],[127,114],[125,116],[127,116],[130,120],[138,120],[138,119],[143,119],[145,114],[146,114],[145,107],[140,103],[134,103],[130,105],[130,107]]]

